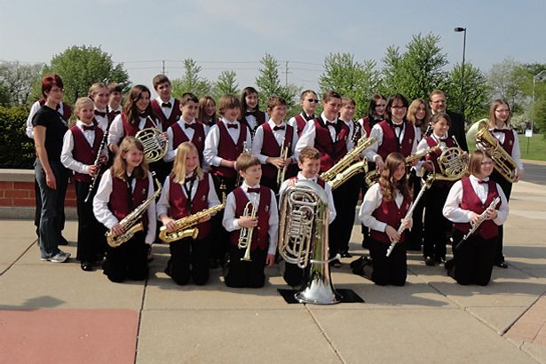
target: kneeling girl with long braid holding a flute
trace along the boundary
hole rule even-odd
[[[384,161],[379,182],[368,189],[360,206],[360,222],[371,230],[369,253],[374,262],[372,281],[379,286],[403,286],[408,278],[405,232],[400,225],[411,228],[411,217],[405,220],[411,203],[406,176],[405,157],[389,154]],[[389,257],[387,249],[396,242]]]

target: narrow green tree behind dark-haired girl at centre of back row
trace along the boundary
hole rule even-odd
[[[265,53],[260,59],[262,67],[258,69],[259,75],[256,77],[256,85],[259,96],[259,102],[265,106],[267,100],[272,96],[280,96],[286,100],[287,107],[290,109],[296,104],[296,95],[299,93],[299,87],[294,84],[281,85],[279,77],[279,62],[271,54]]]

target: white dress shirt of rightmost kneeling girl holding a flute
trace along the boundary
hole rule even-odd
[[[470,177],[472,189],[478,195],[479,201],[481,203],[486,202],[487,194],[489,193],[489,186],[487,183],[479,183],[479,178],[474,175]],[[489,178],[484,178],[485,181]],[[496,184],[496,190],[501,197],[501,206],[497,208],[497,217],[493,219],[493,222],[501,226],[504,224],[504,221],[508,218],[508,202],[506,201],[506,195],[502,192],[501,186]],[[471,222],[471,212],[470,210],[461,209],[461,202],[463,201],[463,182],[456,181],[455,184],[449,190],[447,194],[446,204],[442,213],[444,216],[454,222],[454,223],[470,223]]]

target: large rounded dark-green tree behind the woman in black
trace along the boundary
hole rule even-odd
[[[86,96],[93,83],[119,83],[129,86],[129,75],[123,64],[114,64],[112,56],[100,47],[73,45],[56,54],[51,64],[44,67],[43,74],[56,73],[62,77],[65,86],[65,101]],[[41,92],[38,91],[41,96]]]

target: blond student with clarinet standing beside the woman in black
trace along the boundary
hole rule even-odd
[[[78,250],[76,259],[83,271],[91,271],[93,264],[102,259],[106,250],[105,229],[93,214],[93,196],[85,199],[89,193],[91,181],[99,178],[100,166],[107,162],[106,143],[101,143],[104,136],[99,126],[93,123],[95,104],[92,99],[80,98],[75,102],[75,115],[78,120],[65,134],[60,162],[75,171],[74,186],[78,213]],[[95,164],[99,155],[99,164]]]

